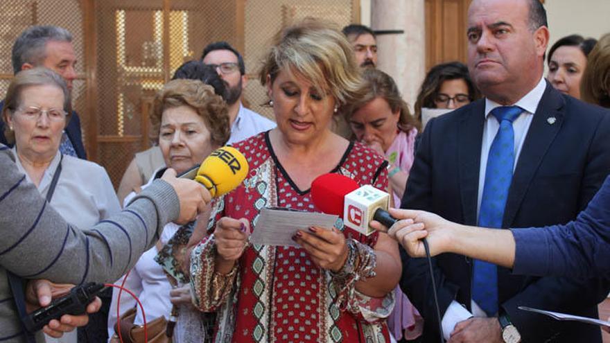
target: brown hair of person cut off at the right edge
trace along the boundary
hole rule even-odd
[[[580,80],[580,96],[587,103],[610,108],[610,33],[595,44]]]

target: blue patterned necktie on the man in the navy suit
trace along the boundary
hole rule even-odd
[[[485,168],[485,184],[479,210],[480,227],[502,227],[504,208],[514,166],[514,130],[512,122],[523,112],[517,106],[496,107],[491,115],[500,123]],[[498,312],[498,270],[496,265],[475,260],[472,299],[489,316]]]

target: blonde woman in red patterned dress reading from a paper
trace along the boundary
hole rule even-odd
[[[390,342],[385,317],[401,274],[396,243],[343,227],[305,228],[299,247],[248,244],[264,207],[319,211],[311,182],[340,173],[387,189],[386,162],[329,129],[358,96],[345,37],[320,21],[281,31],[261,71],[277,128],[236,143],[250,173],[212,205],[191,254],[195,305],[216,313],[215,342]]]

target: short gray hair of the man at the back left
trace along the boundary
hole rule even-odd
[[[59,26],[30,26],[12,44],[12,70],[21,71],[24,63],[38,67],[46,58],[47,42],[72,42],[72,34]]]

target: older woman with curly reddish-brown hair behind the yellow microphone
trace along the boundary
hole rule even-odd
[[[212,70],[216,74],[216,71]],[[223,98],[214,94],[214,88],[204,85],[200,80],[172,80],[159,91],[155,97],[153,112],[150,118],[155,132],[159,134],[159,148],[164,157],[165,165],[176,170],[177,174],[200,164],[212,150],[223,146],[229,139],[229,116],[227,105]],[[161,168],[154,173],[150,182],[164,173]],[[146,186],[144,186],[146,187]],[[129,202],[135,194],[125,198]],[[172,303],[180,306],[179,324],[175,329],[173,342],[194,342],[200,340],[204,334],[200,313],[194,311],[191,299],[183,297],[184,283],[188,279],[178,280],[177,288],[166,279],[162,266],[155,261],[157,252],[177,232],[179,225],[169,223],[164,227],[163,234],[156,247],[145,252],[128,274],[125,287],[134,292],[141,299],[146,311],[147,322],[153,322],[159,317],[170,317]],[[121,284],[119,279],[117,284]],[[173,297],[170,293],[173,292]],[[113,291],[112,308],[108,320],[108,331],[114,334],[116,323],[116,304],[118,290]],[[136,302],[129,294],[121,294],[121,313],[131,310]],[[133,325],[143,324],[141,309],[136,308]],[[191,313],[187,313],[191,312]],[[186,320],[185,320],[186,319]],[[184,328],[184,325],[188,326]],[[161,340],[165,329],[151,333]],[[191,336],[185,336],[191,335]],[[115,335],[113,342],[118,342]],[[152,337],[150,337],[152,339]],[[166,341],[155,341],[166,342]]]

